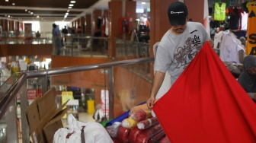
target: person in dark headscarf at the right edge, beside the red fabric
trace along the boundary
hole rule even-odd
[[[238,83],[256,103],[256,57],[245,56],[244,70],[238,77]]]

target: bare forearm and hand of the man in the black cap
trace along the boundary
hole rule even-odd
[[[164,78],[165,78],[165,73],[161,71],[155,71],[155,77],[153,80],[151,94],[150,94],[149,100],[147,100],[147,105],[149,109],[152,109],[153,104],[155,103],[155,96],[158,93],[159,88],[161,87],[162,82],[164,81]]]

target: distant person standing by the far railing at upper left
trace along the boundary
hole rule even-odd
[[[59,55],[61,48],[60,31],[56,24],[53,24],[53,54]]]

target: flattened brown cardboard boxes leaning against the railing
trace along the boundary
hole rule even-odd
[[[68,110],[64,108],[66,103],[56,108],[55,88],[53,87],[43,97],[37,97],[27,106],[27,122],[33,142],[53,142],[54,133],[63,127],[61,119]]]

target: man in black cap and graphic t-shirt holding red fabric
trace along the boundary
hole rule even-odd
[[[187,22],[187,6],[184,3],[171,3],[168,8],[168,20],[171,29],[162,37],[156,52],[155,78],[147,100],[149,109],[155,103],[155,95],[162,85],[167,70],[171,75],[171,84],[174,84],[206,41],[213,46],[213,40],[210,40],[202,24]]]

